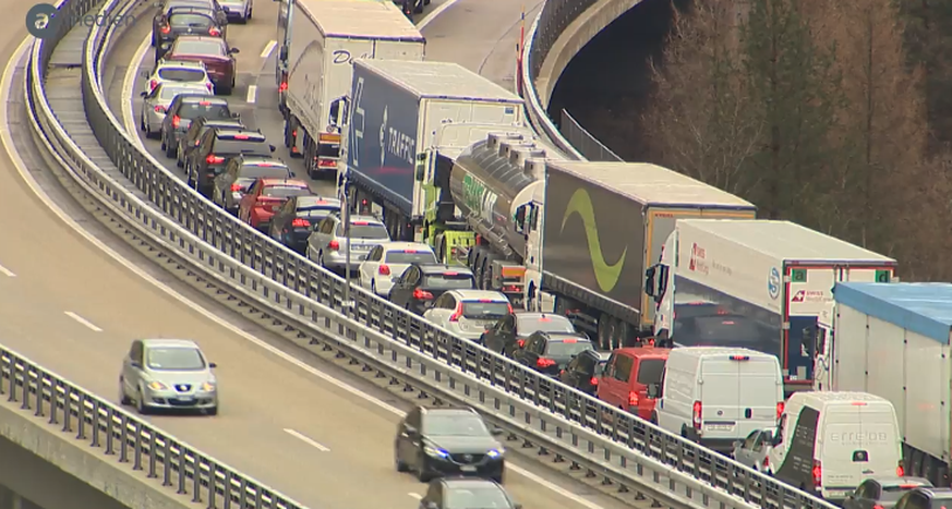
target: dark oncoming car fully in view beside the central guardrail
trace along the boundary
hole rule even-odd
[[[445,475],[502,483],[506,449],[498,435],[472,409],[415,407],[397,425],[394,463],[424,483]]]

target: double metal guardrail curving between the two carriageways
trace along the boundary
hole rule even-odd
[[[118,3],[111,0],[104,9]],[[356,306],[345,307],[342,278],[238,221],[137,149],[134,134],[126,133],[109,111],[98,82],[109,41],[108,31],[94,27],[84,48],[87,119],[110,158],[150,204],[99,170],[57,123],[41,75],[56,40],[35,45],[27,94],[39,121],[34,126],[48,148],[62,156],[71,177],[103,207],[124,218],[140,234],[292,324],[312,344],[346,351],[367,371],[395,383],[470,404],[556,459],[571,461],[663,505],[833,508],[455,337],[360,288],[351,289]],[[230,475],[243,478],[238,472]]]

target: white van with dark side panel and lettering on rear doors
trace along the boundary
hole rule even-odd
[[[895,409],[879,396],[796,392],[781,416],[770,470],[794,487],[843,500],[870,476],[904,475],[901,438]]]

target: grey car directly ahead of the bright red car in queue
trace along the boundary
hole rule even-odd
[[[288,165],[270,156],[232,157],[225,165],[225,171],[215,177],[212,201],[237,216],[241,198],[255,180],[293,178],[294,172]]]

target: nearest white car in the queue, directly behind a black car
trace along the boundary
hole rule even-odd
[[[493,290],[450,290],[423,312],[429,322],[470,341],[477,342],[486,327],[513,314],[509,299]]]

